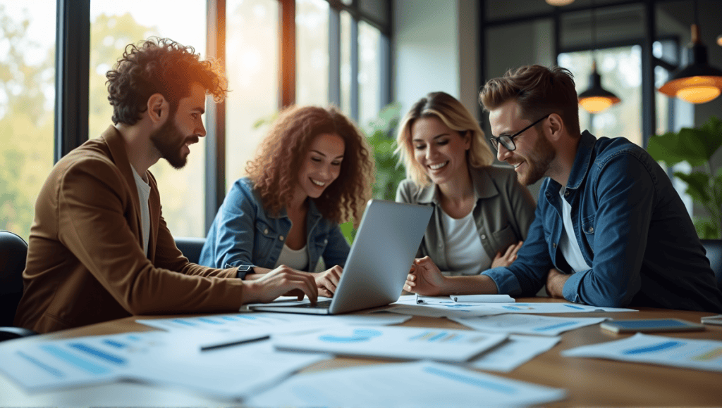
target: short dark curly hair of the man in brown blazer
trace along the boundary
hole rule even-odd
[[[105,76],[108,100],[113,105],[113,123],[134,125],[147,110],[148,98],[162,94],[175,114],[178,101],[191,94],[199,82],[215,102],[222,102],[228,81],[219,61],[201,61],[193,47],[168,38],[150,37],[138,45],[126,45],[123,56]]]

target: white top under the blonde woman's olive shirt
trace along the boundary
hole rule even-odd
[[[473,213],[474,210],[471,210],[464,218],[456,219],[441,210],[450,272],[476,275],[492,265],[492,260],[482,247]]]

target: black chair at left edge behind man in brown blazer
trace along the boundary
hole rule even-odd
[[[12,232],[0,231],[0,342],[37,334],[32,330],[12,327],[17,304],[22,297],[25,257],[25,240]]]

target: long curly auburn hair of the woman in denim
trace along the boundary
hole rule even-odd
[[[321,197],[312,199],[313,203],[323,218],[336,223],[352,218],[358,226],[371,198],[375,164],[365,136],[335,107],[284,109],[271,124],[245,171],[261,194],[264,208],[277,214],[291,202],[298,183],[296,169],[301,167],[314,138],[323,133],[335,133],[344,140],[344,159],[339,177]]]

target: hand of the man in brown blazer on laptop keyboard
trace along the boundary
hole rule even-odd
[[[313,275],[300,272],[286,265],[281,265],[256,280],[245,281],[245,303],[268,303],[275,298],[285,296],[298,296],[316,304],[318,288]]]

